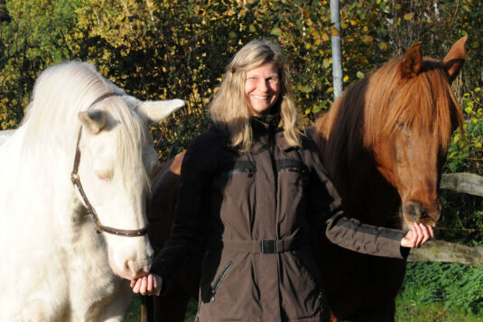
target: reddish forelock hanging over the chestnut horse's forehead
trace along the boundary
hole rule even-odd
[[[365,108],[365,144],[381,134],[391,135],[398,126],[416,133],[430,129],[447,149],[452,129],[462,124],[459,105],[441,62],[423,60],[421,72],[410,79],[399,77],[400,60],[390,61],[369,79]]]

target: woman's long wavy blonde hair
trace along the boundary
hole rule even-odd
[[[274,63],[279,74],[280,95],[273,106],[280,112],[279,126],[283,127],[283,134],[289,145],[301,144],[288,63],[276,44],[250,41],[228,64],[221,85],[209,105],[211,120],[228,133],[232,146],[242,151],[250,148],[253,142],[245,96],[246,72],[268,62]]]

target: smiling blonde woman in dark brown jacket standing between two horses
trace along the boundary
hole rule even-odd
[[[163,294],[205,251],[200,321],[320,321],[312,231],[399,258],[432,239],[424,225],[404,234],[343,216],[315,144],[297,129],[288,64],[274,44],[251,41],[238,51],[209,112],[213,124],[181,167],[172,235],[151,273],[131,282],[136,293]]]

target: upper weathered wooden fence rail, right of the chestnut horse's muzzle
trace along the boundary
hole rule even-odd
[[[473,173],[445,173],[441,176],[440,188],[483,197],[483,177]]]

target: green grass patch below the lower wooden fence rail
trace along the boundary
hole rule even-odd
[[[396,321],[483,322],[483,267],[409,262]]]

